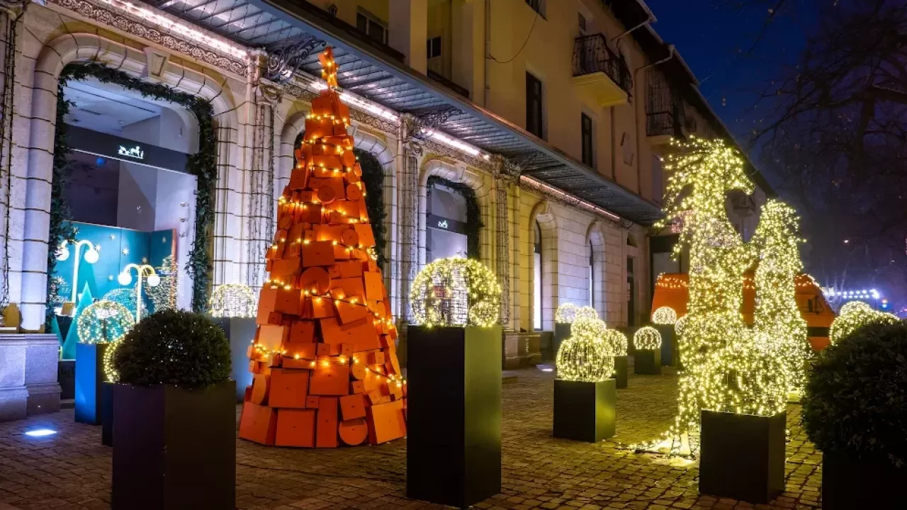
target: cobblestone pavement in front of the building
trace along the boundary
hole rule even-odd
[[[600,444],[551,437],[551,373],[518,371],[503,389],[502,494],[476,505],[514,510],[629,508],[820,508],[821,454],[788,407],[786,492],[771,505],[697,494],[695,463],[637,454],[620,444],[649,441],[671,423],[677,378],[631,377],[618,392],[618,435]],[[39,426],[59,433],[23,436]],[[405,440],[332,450],[237,442],[237,508],[441,508],[405,498]],[[110,507],[111,452],[100,427],[73,411],[0,424],[0,510]],[[200,487],[200,490],[204,490]]]

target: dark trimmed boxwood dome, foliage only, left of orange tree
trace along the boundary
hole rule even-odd
[[[162,310],[126,334],[112,363],[121,383],[207,387],[229,379],[229,341],[204,315]]]

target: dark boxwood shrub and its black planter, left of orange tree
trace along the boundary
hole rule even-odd
[[[122,339],[112,365],[113,508],[234,508],[236,383],[223,331],[163,310]]]

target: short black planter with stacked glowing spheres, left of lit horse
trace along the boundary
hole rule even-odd
[[[614,351],[600,319],[573,321],[561,344],[554,379],[554,436],[595,443],[614,436]]]

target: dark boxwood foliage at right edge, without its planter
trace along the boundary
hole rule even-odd
[[[904,466],[907,324],[869,324],[826,348],[806,384],[803,425],[824,452]]]

